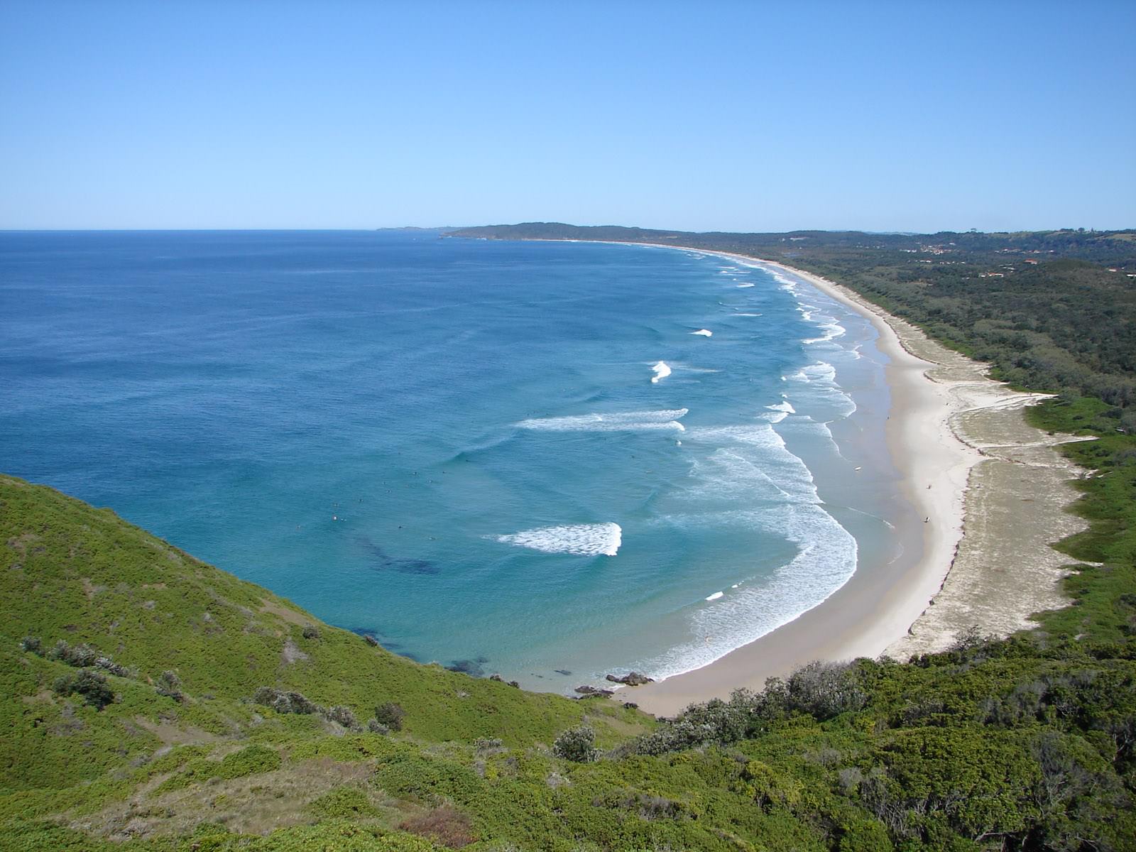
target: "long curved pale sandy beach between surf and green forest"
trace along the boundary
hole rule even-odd
[[[643,243],[632,243],[643,244]],[[930,341],[852,291],[775,261],[718,254],[788,273],[867,316],[889,364],[886,441],[922,524],[901,529],[903,553],[859,565],[821,604],[716,662],[660,683],[623,688],[616,700],[669,716],[687,704],[760,688],[812,660],[912,654],[949,648],[969,629],[1005,635],[1060,607],[1069,560],[1049,545],[1085,527],[1064,511],[1080,475],[1053,448],[1069,436],[1025,423],[1039,399],[986,377],[986,366]]]

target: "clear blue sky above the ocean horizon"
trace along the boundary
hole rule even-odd
[[[1127,0],[0,0],[0,228],[1134,227],[1134,43]]]

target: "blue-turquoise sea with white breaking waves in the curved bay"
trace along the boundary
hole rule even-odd
[[[871,325],[720,257],[7,233],[0,308],[0,468],[532,687],[704,665],[910,511]]]

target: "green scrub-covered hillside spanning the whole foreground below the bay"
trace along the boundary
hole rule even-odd
[[[1066,416],[1092,427],[1100,412]],[[1128,546],[1125,523],[1112,532],[1094,553]],[[327,626],[304,640],[317,623],[285,601],[10,477],[0,554],[0,850],[1136,849],[1136,620],[1095,615],[1117,599],[1100,583],[1049,638],[863,661],[832,688],[743,698],[663,725],[667,744],[624,737],[613,759],[573,763],[544,743],[585,711],[609,745],[642,720]],[[50,686],[74,669],[19,650],[27,634],[92,642],[136,676],[111,677],[101,711],[60,698]],[[310,660],[285,663],[289,640]],[[184,704],[148,683],[169,666]],[[360,717],[395,700],[407,732],[249,704],[266,683]],[[487,735],[507,742],[470,742]]]

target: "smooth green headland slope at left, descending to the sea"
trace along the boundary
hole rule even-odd
[[[0,816],[122,797],[150,777],[164,746],[222,753],[259,742],[294,751],[342,733],[316,716],[252,704],[265,685],[348,705],[360,721],[394,701],[407,713],[403,736],[417,742],[496,737],[528,746],[585,717],[601,742],[646,727],[645,717],[608,702],[528,693],[371,648],[110,510],[8,476],[0,476]],[[306,638],[306,626],[318,637]],[[52,684],[75,669],[22,651],[25,636],[44,649],[90,643],[135,676],[109,677],[117,701],[101,711],[62,699]],[[287,662],[285,645],[303,657],[293,651]],[[185,703],[156,692],[167,669]]]

